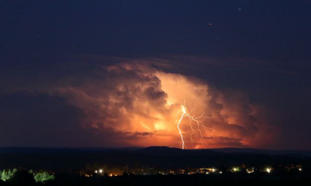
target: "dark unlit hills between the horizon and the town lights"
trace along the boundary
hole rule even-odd
[[[293,152],[293,153],[289,153]],[[298,154],[303,152],[303,154]],[[248,148],[187,149],[167,146],[146,148],[34,148],[0,147],[0,170],[4,168],[25,167],[27,169],[68,170],[74,166],[85,169],[87,163],[107,164],[108,167],[133,167],[136,162],[148,166],[163,168],[189,166],[219,167],[237,166],[249,163],[252,166],[271,165],[271,162],[287,164],[305,164],[311,156],[309,151],[277,151]],[[277,155],[284,154],[284,155]],[[271,156],[275,155],[275,156]],[[307,158],[306,158],[307,157]]]

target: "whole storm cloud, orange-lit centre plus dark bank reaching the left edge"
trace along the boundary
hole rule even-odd
[[[53,81],[45,77],[27,88],[8,86],[1,101],[14,101],[2,104],[2,121],[10,125],[2,125],[2,132],[15,126],[17,132],[7,134],[37,142],[2,145],[59,146],[65,140],[64,146],[181,147],[177,123],[182,106],[201,121],[199,125],[189,117],[181,121],[186,148],[263,145],[257,136],[268,126],[258,122],[257,107],[249,103],[247,93],[218,90],[199,78],[166,73],[151,64],[146,60],[110,66],[85,63]],[[18,134],[22,131],[28,132]]]

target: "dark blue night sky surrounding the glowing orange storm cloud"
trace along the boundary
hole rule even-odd
[[[174,65],[153,64],[166,72],[247,93],[279,130],[277,142],[266,148],[311,150],[310,10],[310,0],[1,1],[0,145],[61,146],[60,138],[49,142],[61,134],[56,129],[46,142],[36,142],[54,121],[35,117],[38,110],[69,128],[79,126],[83,113],[40,89],[60,85],[66,76],[78,84],[98,65],[119,58],[157,58]],[[33,139],[20,142],[28,138],[23,131],[32,131]],[[71,138],[80,133],[71,131]],[[15,134],[20,138],[9,137]],[[67,146],[90,144],[63,140]]]

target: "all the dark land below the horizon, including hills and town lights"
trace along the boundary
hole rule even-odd
[[[0,186],[311,186],[311,157],[303,153],[2,148]]]

